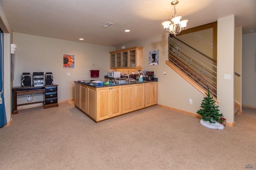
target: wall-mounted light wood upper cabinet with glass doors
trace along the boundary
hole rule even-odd
[[[142,68],[143,47],[110,52],[110,68]]]

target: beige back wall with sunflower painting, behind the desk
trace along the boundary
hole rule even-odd
[[[21,86],[23,72],[52,72],[54,84],[58,84],[58,101],[74,99],[74,81],[91,80],[89,70],[100,70],[100,78],[93,80],[104,81],[104,75],[110,70],[109,52],[115,50],[109,46],[22,33],[13,33],[13,43],[17,45],[13,86]],[[75,56],[74,68],[63,68],[63,54]],[[71,76],[66,76],[67,73]]]

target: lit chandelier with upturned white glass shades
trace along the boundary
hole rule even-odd
[[[182,20],[180,21],[181,16],[176,16],[176,4],[178,4],[179,1],[175,0],[172,1],[172,5],[174,5],[174,17],[171,21],[164,21],[162,22],[162,25],[164,25],[164,31],[169,31],[171,34],[176,36],[180,31],[185,30],[187,26],[188,20]]]

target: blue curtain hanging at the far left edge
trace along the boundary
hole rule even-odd
[[[0,41],[0,128],[4,127],[4,125],[7,124],[6,120],[6,113],[5,113],[5,107],[4,107],[4,93],[3,93],[3,33],[2,30],[0,30],[1,33],[1,41]],[[1,102],[2,100],[2,102]]]

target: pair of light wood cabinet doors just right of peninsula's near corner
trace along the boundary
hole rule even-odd
[[[97,88],[97,121],[121,114],[121,87]]]

